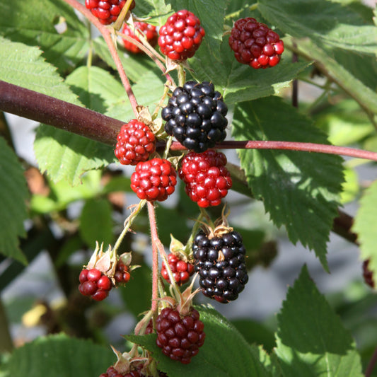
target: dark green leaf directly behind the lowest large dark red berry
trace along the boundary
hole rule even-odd
[[[197,310],[204,323],[206,340],[189,368],[165,356],[156,345],[156,335],[127,336],[126,339],[149,349],[158,361],[158,369],[170,377],[272,376],[258,359],[257,347],[250,346],[226,318],[213,308],[197,307]]]

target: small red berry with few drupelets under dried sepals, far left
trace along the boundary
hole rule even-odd
[[[112,283],[109,277],[99,269],[83,269],[79,276],[79,291],[84,296],[91,296],[95,301],[102,301],[108,297]]]

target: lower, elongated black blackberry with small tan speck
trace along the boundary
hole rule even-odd
[[[209,238],[199,231],[192,251],[204,296],[221,303],[236,300],[248,282],[245,247],[240,233],[231,231]]]

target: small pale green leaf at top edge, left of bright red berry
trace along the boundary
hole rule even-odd
[[[168,16],[173,14],[170,4],[163,0],[139,0],[134,12],[141,18],[148,18],[148,23],[162,26]]]

